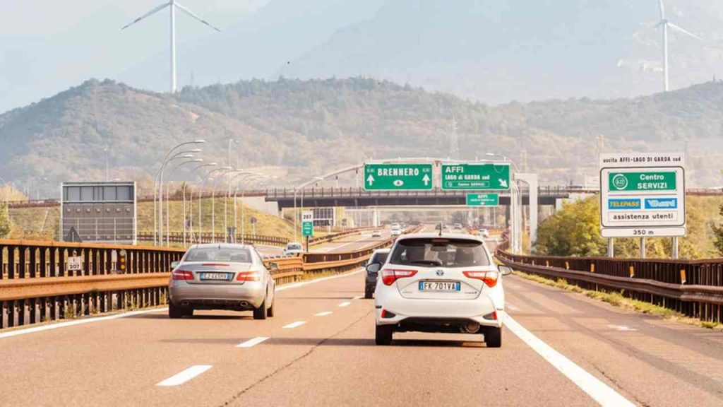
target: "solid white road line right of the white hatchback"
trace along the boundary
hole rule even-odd
[[[593,400],[604,407],[634,407],[635,404],[630,400],[612,390],[611,387],[600,381],[597,377],[589,374],[585,369],[570,361],[562,353],[555,351],[550,345],[544,343],[539,337],[532,332],[526,330],[513,317],[507,313],[503,314],[502,321],[513,334],[517,335],[524,343],[526,343],[533,351],[542,356],[549,364],[560,373],[564,374],[570,381],[575,383],[583,392],[590,395]]]

